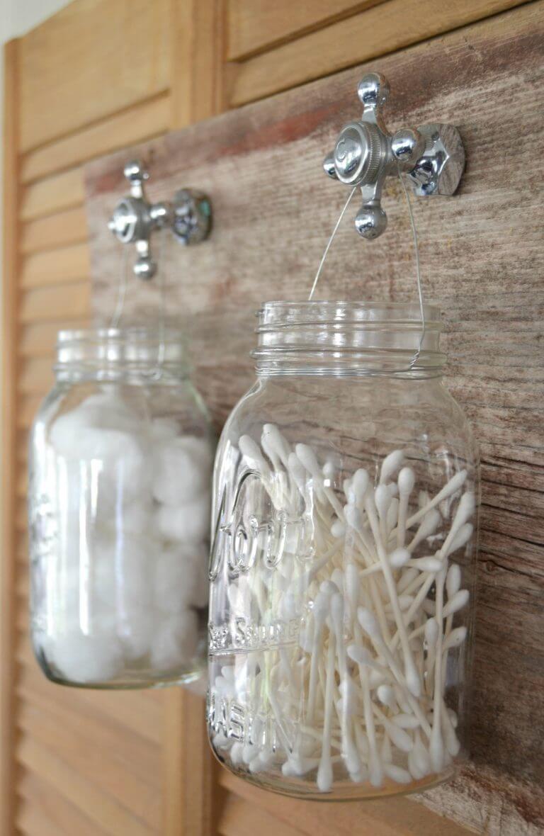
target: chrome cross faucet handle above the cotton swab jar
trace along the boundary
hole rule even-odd
[[[453,125],[423,125],[390,134],[381,112],[389,94],[383,75],[365,75],[357,93],[363,115],[343,126],[323,168],[346,186],[360,186],[363,206],[355,227],[359,235],[372,240],[387,227],[381,206],[386,176],[400,169],[408,172],[417,195],[452,195],[465,167],[465,149]]]

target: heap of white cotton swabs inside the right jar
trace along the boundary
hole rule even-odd
[[[291,644],[255,651],[264,685],[258,699],[255,689],[222,685],[223,675],[212,679],[211,691],[232,691],[236,704],[255,695],[250,711],[268,705],[274,734],[241,750],[221,737],[217,746],[232,750],[226,758],[235,765],[243,754],[252,774],[277,765],[285,777],[314,780],[322,793],[333,789],[337,770],[340,779],[343,770],[374,788],[385,777],[404,785],[440,772],[460,750],[444,683],[447,656],[467,634],[454,619],[469,594],[449,563],[473,533],[474,496],[460,496],[467,473],[433,496],[416,490],[420,464],[404,466],[404,451],[394,450],[373,470],[377,483],[363,467],[342,481],[338,456],[320,462],[312,446],[289,444],[269,424],[260,445],[242,436],[240,450],[276,511],[298,528],[276,567],[261,562],[257,549],[253,579],[247,593],[232,593],[232,612],[239,619],[251,609],[263,636],[283,635],[277,616],[300,630]],[[313,556],[301,559],[307,533]]]

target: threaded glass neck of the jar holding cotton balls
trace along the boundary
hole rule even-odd
[[[54,371],[58,382],[176,383],[189,376],[183,339],[171,329],[60,331]]]

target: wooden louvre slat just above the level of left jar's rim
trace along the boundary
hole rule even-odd
[[[20,321],[47,322],[82,319],[89,311],[90,283],[75,282],[52,288],[36,288],[22,294]]]

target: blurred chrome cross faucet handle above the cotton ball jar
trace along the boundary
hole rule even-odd
[[[149,173],[140,160],[125,165],[130,194],[114,208],[108,227],[124,244],[135,244],[137,257],[133,271],[138,278],[150,279],[157,272],[151,255],[151,234],[169,228],[177,241],[190,246],[205,241],[211,230],[211,201],[201,191],[180,189],[172,201],[151,203],[145,195]]]

